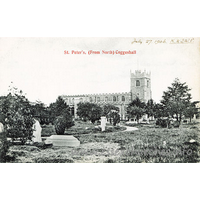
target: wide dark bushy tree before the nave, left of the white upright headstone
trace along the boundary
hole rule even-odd
[[[90,120],[94,123],[101,118],[102,108],[99,105],[89,102],[80,102],[77,106],[77,115],[84,121]]]

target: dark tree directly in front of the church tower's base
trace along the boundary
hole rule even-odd
[[[135,117],[137,122],[145,114],[145,103],[137,97],[127,107],[127,114],[129,118]]]

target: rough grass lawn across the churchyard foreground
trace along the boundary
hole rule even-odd
[[[79,141],[79,147],[14,145],[12,162],[59,163],[187,163],[200,162],[200,123],[180,128],[156,128],[154,124],[138,125],[137,131],[107,128],[102,133],[86,122],[76,122],[67,133]],[[53,126],[43,127],[42,135],[55,134]]]

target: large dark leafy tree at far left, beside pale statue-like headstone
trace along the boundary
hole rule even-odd
[[[19,139],[22,144],[32,139],[34,119],[30,102],[22,91],[11,88],[1,102],[0,113],[6,137],[12,141]]]

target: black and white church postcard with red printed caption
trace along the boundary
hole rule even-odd
[[[0,161],[199,163],[199,45],[1,37]]]

